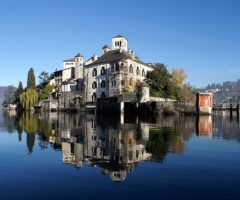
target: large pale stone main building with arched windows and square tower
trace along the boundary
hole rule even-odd
[[[96,98],[114,97],[124,91],[135,91],[153,68],[127,50],[127,39],[121,35],[112,38],[112,50],[105,45],[103,55],[84,65],[85,102]]]

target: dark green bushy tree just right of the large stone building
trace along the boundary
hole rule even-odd
[[[155,63],[154,67],[155,69],[148,72],[145,79],[150,86],[150,94],[157,97],[171,97],[173,95],[171,74],[164,64]]]

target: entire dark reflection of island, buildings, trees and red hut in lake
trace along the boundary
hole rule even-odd
[[[37,140],[41,148],[49,144],[62,150],[63,163],[83,166],[99,166],[101,173],[112,181],[124,181],[137,163],[144,161],[164,162],[168,153],[183,155],[186,141],[194,133],[199,137],[215,137],[223,126],[222,118],[211,116],[125,116],[125,123],[116,115],[69,114],[69,113],[3,113],[9,133],[18,132],[19,141],[26,133],[29,153],[34,151]],[[213,123],[214,122],[214,123]],[[228,122],[235,140],[236,121]],[[214,126],[215,124],[215,126]],[[217,131],[216,131],[217,130]],[[224,130],[221,134],[225,134]],[[231,138],[231,133],[223,138]]]

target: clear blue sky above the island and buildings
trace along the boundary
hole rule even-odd
[[[26,86],[30,67],[62,69],[128,39],[144,62],[183,67],[196,87],[240,78],[238,0],[0,0],[0,85]]]

